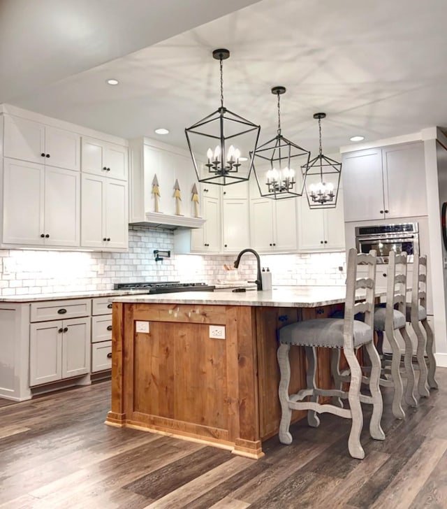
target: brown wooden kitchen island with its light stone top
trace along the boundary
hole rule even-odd
[[[200,440],[259,458],[279,428],[277,331],[342,310],[344,287],[188,292],[112,299],[112,408],[106,424]],[[210,326],[217,338],[210,338]],[[330,387],[329,352],[318,385]],[[291,390],[305,355],[291,349]],[[304,413],[295,412],[293,420]]]

